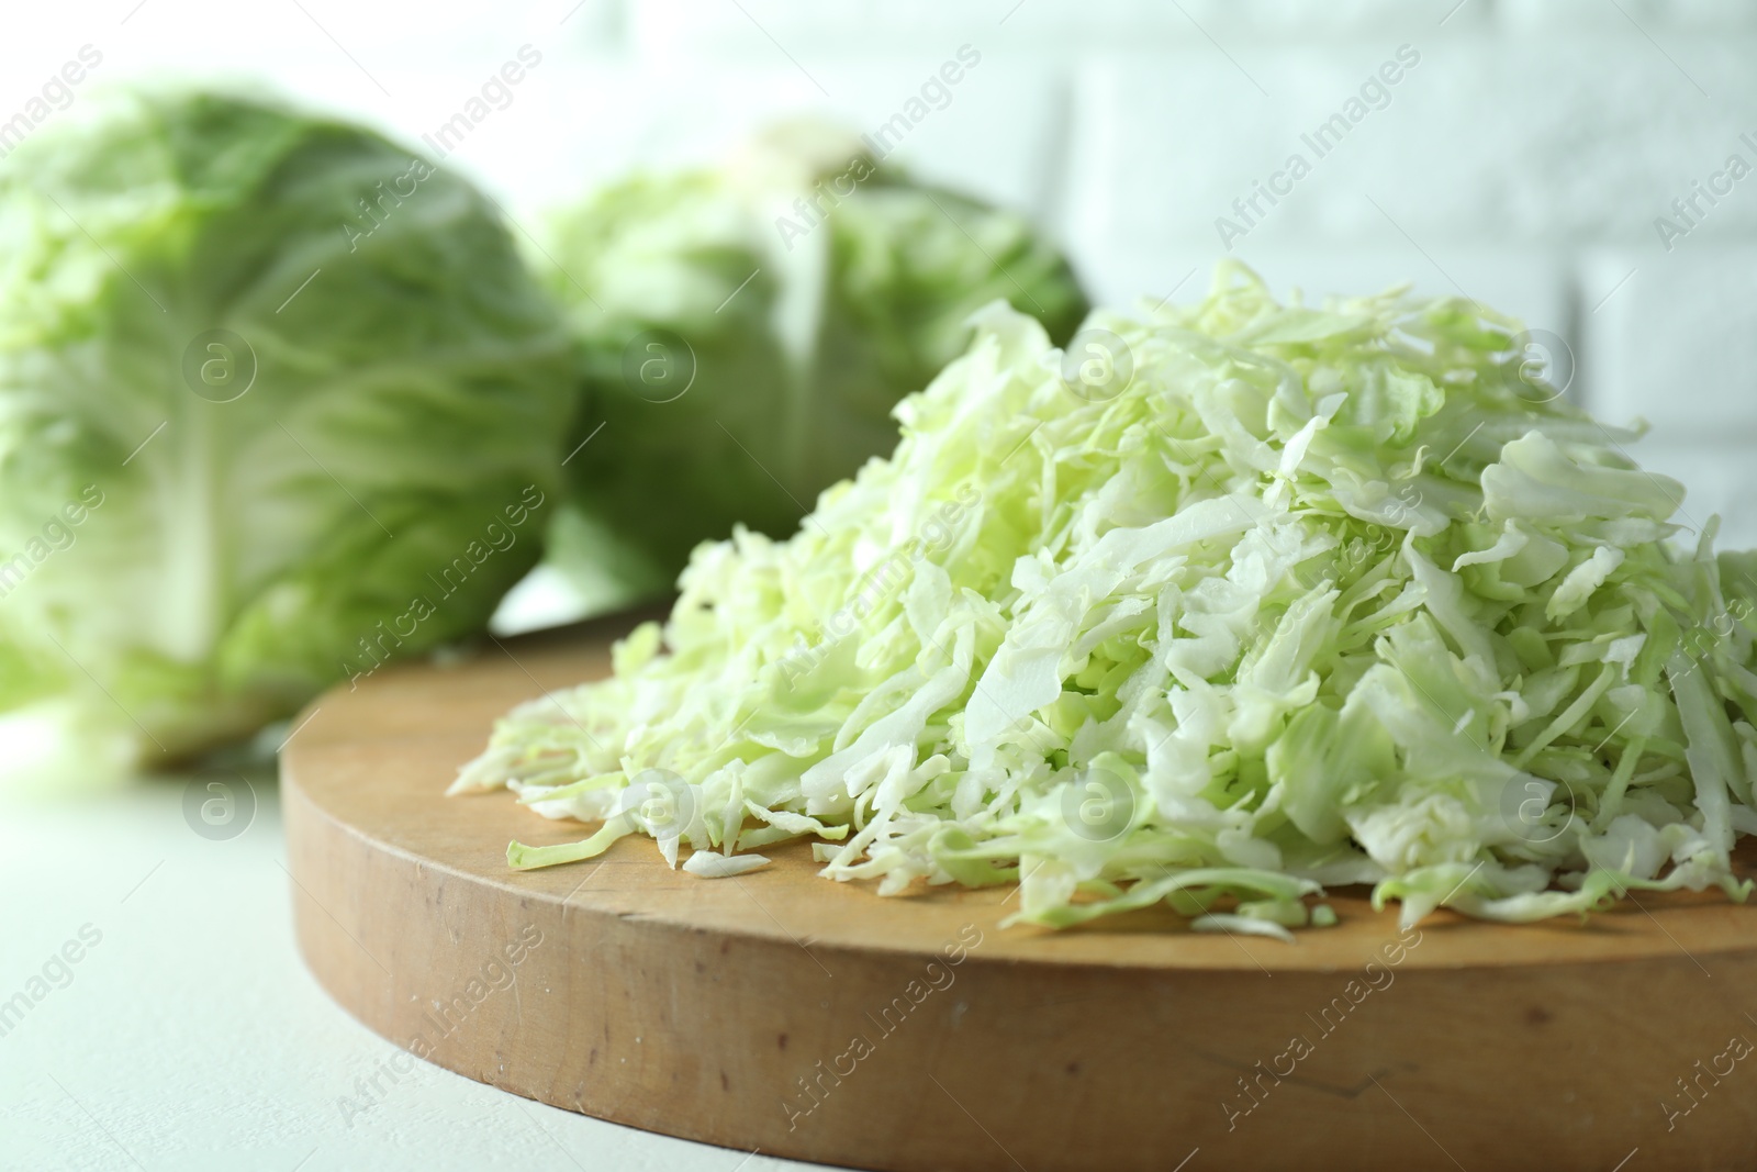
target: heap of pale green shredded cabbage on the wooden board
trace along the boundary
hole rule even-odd
[[[1673,545],[1683,488],[1518,322],[1223,265],[1066,353],[991,306],[896,416],[791,539],[699,546],[611,678],[499,722],[453,792],[603,821],[513,866],[812,838],[880,894],[1277,937],[1339,884],[1406,924],[1748,894],[1757,557]]]

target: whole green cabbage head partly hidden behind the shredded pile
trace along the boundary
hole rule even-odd
[[[817,494],[893,448],[893,408],[963,351],[991,300],[1058,343],[1088,311],[1028,220],[815,121],[719,169],[618,181],[552,235],[587,392],[552,561],[583,610],[668,592],[734,524],[791,534]]]

